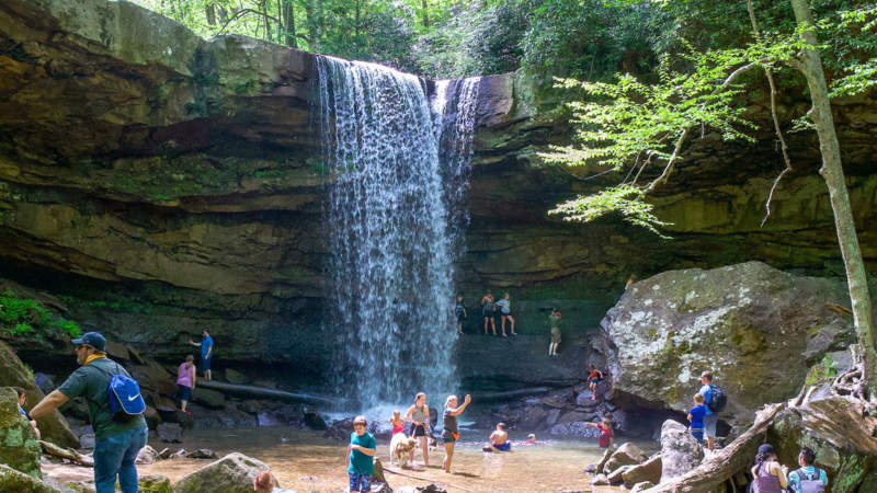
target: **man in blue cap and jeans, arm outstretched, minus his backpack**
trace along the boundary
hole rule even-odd
[[[114,421],[106,393],[113,375],[130,375],[118,363],[106,357],[106,340],[98,332],[88,332],[71,342],[76,345],[76,362],[81,366],[31,410],[31,417],[38,420],[69,399],[83,397],[89,405],[91,427],[94,428],[96,493],[114,493],[116,477],[123,493],[137,493],[134,459],[146,446],[146,420],[138,414],[124,422]]]

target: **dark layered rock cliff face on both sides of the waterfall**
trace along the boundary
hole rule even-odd
[[[0,5],[0,272],[61,296],[71,318],[157,357],[202,329],[220,359],[327,368],[322,184],[312,125],[314,55],[241,36],[204,41],[127,2]],[[424,81],[426,88],[432,83]],[[594,326],[630,274],[762,260],[838,273],[816,137],[791,136],[796,173],[759,223],[781,169],[754,146],[706,134],[654,197],[673,240],[606,218],[569,225],[556,203],[608,183],[540,165],[568,139],[550,91],[485,78],[457,270],[471,307],[511,289],[523,332],[550,306],[571,332]],[[806,107],[789,99],[782,116]],[[863,251],[877,233],[877,101],[835,105]],[[764,115],[753,106],[753,115]],[[764,126],[770,129],[770,126]],[[476,331],[470,313],[467,331]],[[547,344],[547,340],[546,340]]]

